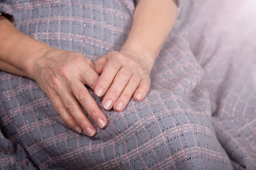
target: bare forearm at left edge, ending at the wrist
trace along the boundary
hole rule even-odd
[[[18,31],[0,17],[0,70],[32,79],[32,61],[49,48]]]

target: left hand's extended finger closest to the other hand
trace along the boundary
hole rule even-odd
[[[105,127],[108,119],[84,85],[81,82],[74,82],[70,88],[73,94],[76,96],[76,99],[81,103],[81,105],[84,106],[84,109],[97,124],[97,126],[100,128]]]

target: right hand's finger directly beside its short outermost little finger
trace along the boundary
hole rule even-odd
[[[113,109],[115,111],[123,111],[125,109],[125,107],[128,105],[128,102],[131,100],[132,95],[140,85],[140,80],[140,74],[133,74],[131,76],[131,79],[127,83],[125,89],[122,91],[122,94],[113,105]]]

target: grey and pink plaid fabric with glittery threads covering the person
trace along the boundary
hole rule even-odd
[[[0,2],[24,34],[93,61],[122,47],[134,10],[132,0]],[[70,130],[34,81],[1,71],[0,169],[256,169],[255,39],[238,38],[240,25],[223,34],[236,26],[231,3],[184,1],[148,96],[102,109],[109,123],[93,138]]]

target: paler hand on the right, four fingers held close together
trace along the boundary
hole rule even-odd
[[[95,67],[101,76],[95,94],[105,95],[103,107],[123,111],[132,96],[136,101],[143,100],[150,88],[153,63],[135,51],[111,51],[99,58]]]

